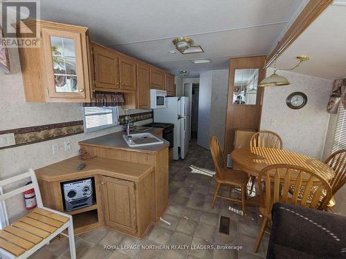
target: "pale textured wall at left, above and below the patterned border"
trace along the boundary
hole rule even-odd
[[[0,131],[10,128],[70,122],[82,119],[81,104],[25,102],[17,49],[10,49],[10,61],[12,68],[11,75],[4,75],[0,72]],[[139,113],[143,111],[147,110],[132,110],[130,113]],[[124,111],[120,109],[119,113],[122,115]],[[152,122],[152,119],[138,122],[138,124],[146,124],[149,122]],[[0,150],[0,180],[18,175],[19,173],[24,173],[29,168],[37,169],[78,155],[78,142],[80,140],[113,133],[121,129],[122,126],[116,126],[93,133],[72,135],[56,140]],[[71,150],[60,151],[53,155],[52,144],[58,143],[60,146],[63,146],[64,140],[71,141]],[[26,182],[21,182],[19,185],[25,183]],[[44,193],[42,195],[44,195]],[[17,197],[8,200],[6,204],[10,218],[17,218],[25,213],[22,195],[17,195]]]

